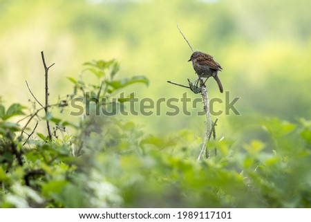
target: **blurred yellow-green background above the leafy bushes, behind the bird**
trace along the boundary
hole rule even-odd
[[[137,98],[180,100],[186,91],[189,98],[200,98],[167,83],[196,80],[178,22],[194,50],[213,55],[223,66],[219,77],[230,100],[241,97],[235,105],[241,115],[218,116],[218,134],[232,125],[251,124],[258,116],[310,119],[310,8],[308,0],[0,0],[0,95],[7,106],[28,105],[33,98],[27,80],[44,101],[44,50],[47,64],[55,62],[50,68],[50,102],[73,91],[66,77],[77,78],[82,64],[92,59],[117,59],[120,78],[148,77],[149,87],[132,86]],[[210,100],[225,100],[214,80],[207,81],[207,89]],[[182,103],[177,104],[181,109]],[[191,111],[191,102],[188,107]],[[214,108],[225,111],[225,102]],[[202,136],[203,116],[167,116],[165,104],[161,109],[160,116],[153,110],[151,116],[130,118],[148,133],[187,128]]]

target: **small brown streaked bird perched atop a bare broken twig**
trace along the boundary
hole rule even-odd
[[[220,93],[223,93],[223,85],[218,78],[218,71],[222,71],[223,68],[221,68],[220,64],[214,60],[214,57],[206,53],[194,52],[188,62],[190,61],[192,61],[192,66],[194,66],[194,70],[196,71],[196,74],[198,74],[199,78],[205,77],[208,79],[211,76],[214,77],[218,84]]]

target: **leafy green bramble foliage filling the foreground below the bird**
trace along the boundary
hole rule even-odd
[[[84,66],[97,84],[68,77],[70,98],[82,98],[84,108],[88,99],[110,101],[129,84],[148,83],[145,77],[117,79],[115,60]],[[191,131],[153,136],[117,115],[84,113],[70,122],[50,113],[43,121],[56,130],[48,142],[45,133],[28,137],[19,122],[8,122],[27,117],[23,109],[0,104],[0,207],[311,207],[308,120],[263,120],[269,140],[254,138],[241,147],[211,141],[216,154],[198,162],[202,138]]]

